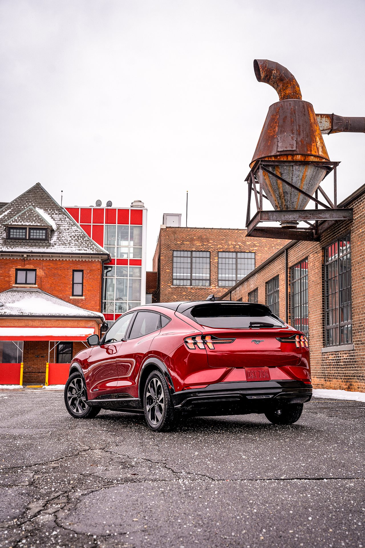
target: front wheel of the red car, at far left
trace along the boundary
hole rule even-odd
[[[88,395],[81,373],[72,373],[68,377],[63,397],[68,413],[75,419],[93,419],[101,411],[101,407],[88,406],[86,403]]]

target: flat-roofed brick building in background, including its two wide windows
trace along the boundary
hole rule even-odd
[[[149,292],[154,302],[200,300],[212,293],[222,294],[224,288],[234,286],[284,243],[246,238],[243,229],[161,225],[153,258],[155,290],[153,275],[148,273]]]

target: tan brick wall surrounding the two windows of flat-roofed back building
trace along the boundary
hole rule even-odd
[[[218,252],[254,253],[258,266],[286,243],[286,240],[246,238],[246,230],[242,229],[161,228],[153,259],[153,270],[158,272],[157,298],[160,302],[169,302],[206,299],[211,293],[219,295],[225,288],[218,286]],[[173,286],[174,250],[210,252],[210,286]]]

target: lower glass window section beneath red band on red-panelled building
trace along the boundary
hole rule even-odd
[[[103,312],[124,314],[141,304],[141,266],[105,266]]]

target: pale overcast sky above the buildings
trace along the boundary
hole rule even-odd
[[[148,208],[245,226],[246,184],[286,66],[316,112],[365,116],[364,0],[0,0],[0,201],[39,181],[63,205]],[[362,185],[365,134],[325,136],[339,199]],[[357,162],[356,162],[357,159]]]

